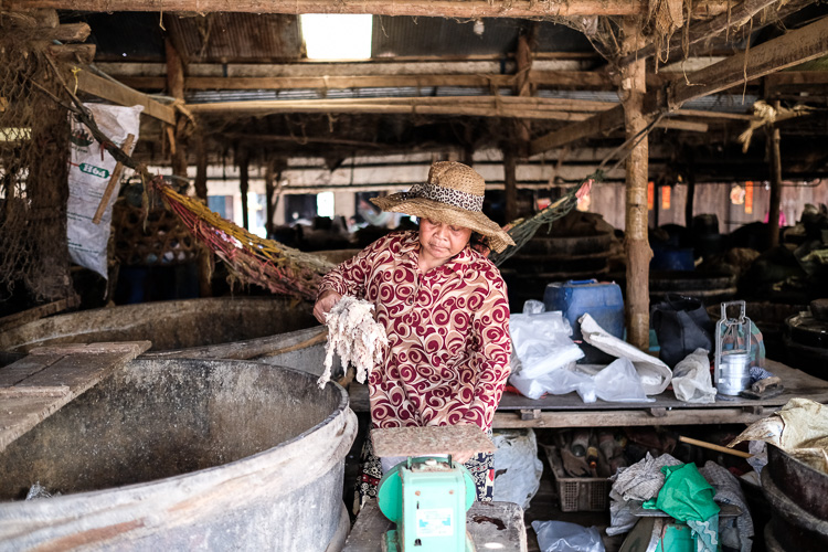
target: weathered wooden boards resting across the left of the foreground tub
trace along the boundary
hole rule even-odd
[[[1,368],[0,381],[17,383],[0,393],[0,450],[150,346],[132,341],[43,347]],[[29,375],[20,380],[24,373]]]

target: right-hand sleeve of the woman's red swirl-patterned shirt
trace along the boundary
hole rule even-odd
[[[497,269],[492,268],[487,276],[490,277],[491,287],[473,321],[476,339],[473,344],[471,363],[477,381],[473,402],[463,418],[484,431],[491,427],[495,411],[511,370],[509,300],[506,296],[506,284]]]

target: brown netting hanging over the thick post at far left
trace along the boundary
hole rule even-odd
[[[70,297],[65,97],[33,46],[36,22],[0,13],[0,304]],[[38,83],[40,88],[33,83]],[[45,92],[44,92],[45,91]]]

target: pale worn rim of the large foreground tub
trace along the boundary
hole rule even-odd
[[[223,360],[182,359],[223,364]],[[159,359],[137,359],[132,362],[163,362]],[[288,367],[265,362],[234,361],[265,370],[285,370],[307,379],[315,376]],[[300,434],[270,448],[244,458],[194,471],[162,477],[98,490],[74,492],[49,499],[0,502],[0,550],[22,550],[32,543],[74,542],[78,534],[107,531],[118,527],[113,537],[100,538],[94,544],[107,544],[112,539],[138,540],[159,528],[192,520],[198,516],[224,511],[240,502],[264,498],[277,500],[325,476],[342,461],[357,434],[357,416],[349,407],[348,393],[336,382],[326,389],[338,394],[336,407],[325,420]],[[323,390],[320,390],[322,392]],[[331,444],[338,439],[336,447]],[[327,445],[327,446],[326,446]],[[309,449],[326,446],[320,461],[299,461]],[[70,507],[71,509],[68,509]],[[71,514],[66,514],[71,511]],[[46,539],[43,541],[43,539]],[[88,544],[88,543],[86,543]]]

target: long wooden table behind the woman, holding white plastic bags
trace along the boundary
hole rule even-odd
[[[676,399],[671,390],[655,395],[651,403],[586,404],[576,393],[546,395],[538,400],[505,393],[495,428],[508,427],[607,427],[634,425],[750,424],[778,410],[795,396],[828,403],[828,381],[773,360],[765,369],[782,378],[785,392],[772,399],[716,399],[711,404],[693,404]],[[368,388],[351,383],[349,393],[354,412],[368,412]]]

